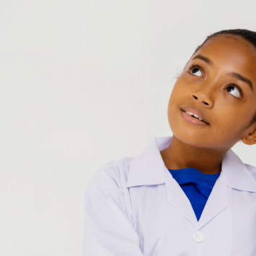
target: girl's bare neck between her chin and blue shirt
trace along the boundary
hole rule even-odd
[[[191,146],[172,136],[171,143],[160,154],[167,169],[195,168],[206,175],[213,175],[221,172],[221,161],[226,151]]]

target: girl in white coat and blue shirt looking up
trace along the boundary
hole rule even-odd
[[[168,105],[172,137],[107,163],[85,193],[84,256],[256,255],[256,32],[206,38]]]

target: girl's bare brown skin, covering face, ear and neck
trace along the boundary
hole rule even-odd
[[[168,148],[160,152],[167,169],[190,167],[207,175],[216,174],[221,172],[221,161],[234,144],[241,139],[244,144],[256,144],[256,122],[251,123],[256,112],[255,53],[256,49],[242,37],[219,35],[190,58],[169,99],[173,137]],[[195,58],[198,55],[211,63]],[[195,66],[190,68],[192,64]],[[231,72],[249,79],[252,89]],[[208,125],[185,120],[182,110],[187,107],[199,110]]]

